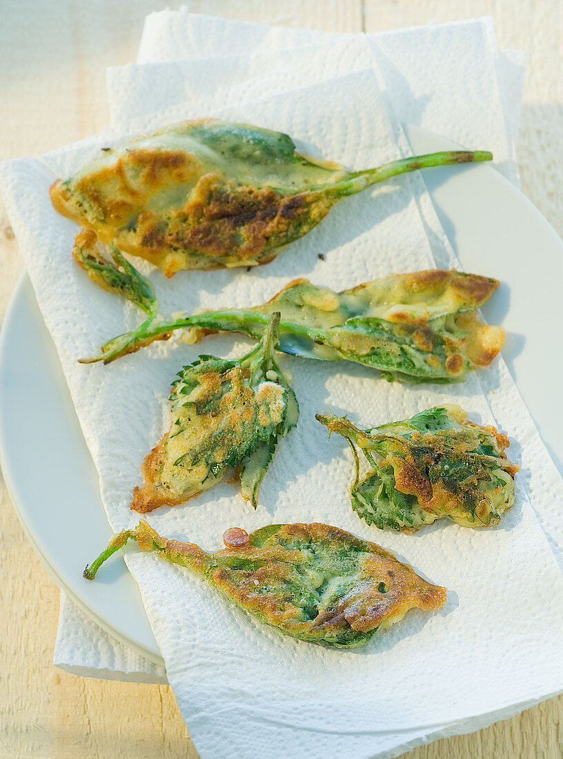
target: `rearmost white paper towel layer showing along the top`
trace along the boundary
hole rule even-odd
[[[146,17],[137,60],[175,61],[218,51],[246,55],[250,50],[291,49],[338,39],[354,45],[360,38],[190,14],[181,8]],[[524,68],[514,52],[508,55],[511,66],[499,63],[507,56],[499,55],[492,20],[370,33],[365,38],[401,121],[447,135],[473,150],[485,140],[499,169],[517,182],[512,134],[517,109],[503,109],[502,91],[514,88],[521,93]],[[499,76],[509,77],[509,88]]]

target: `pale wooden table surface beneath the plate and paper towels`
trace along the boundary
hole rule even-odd
[[[105,67],[134,61],[143,17],[167,5],[179,3],[4,0],[0,158],[44,153],[107,126]],[[196,0],[190,8],[350,32],[491,14],[499,46],[528,55],[522,190],[563,233],[563,0]],[[1,206],[0,250],[3,317],[22,263]],[[52,666],[58,588],[27,543],[3,482],[0,565],[0,757],[197,757],[168,686],[79,678]],[[506,642],[510,656],[510,631]],[[404,757],[563,757],[563,696]]]

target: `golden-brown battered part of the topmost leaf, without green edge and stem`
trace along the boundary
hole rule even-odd
[[[194,124],[187,122],[186,131]],[[212,151],[200,159],[136,141],[118,150],[82,175],[55,181],[52,203],[103,241],[159,266],[166,276],[179,269],[267,263],[338,200],[331,191],[245,184],[236,178],[236,160],[229,166]]]

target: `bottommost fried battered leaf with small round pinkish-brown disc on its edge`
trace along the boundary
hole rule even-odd
[[[285,635],[336,647],[361,646],[409,609],[439,609],[445,588],[432,585],[376,543],[328,524],[269,524],[247,534],[231,528],[225,548],[206,553],[160,537],[141,520],[114,535],[84,577],[127,540],[202,575],[252,616]]]

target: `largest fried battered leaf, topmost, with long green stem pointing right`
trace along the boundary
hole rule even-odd
[[[267,263],[342,197],[418,168],[491,159],[456,150],[346,172],[296,153],[281,132],[182,121],[105,150],[55,181],[51,199],[59,213],[172,276]]]

